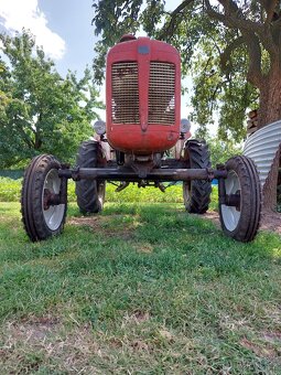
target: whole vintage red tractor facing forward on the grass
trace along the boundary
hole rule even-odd
[[[237,240],[253,239],[260,217],[256,167],[249,158],[235,157],[212,169],[206,143],[186,139],[179,52],[164,42],[125,35],[107,55],[106,90],[106,124],[97,121],[96,139],[82,143],[77,167],[43,154],[25,171],[22,217],[31,240],[62,232],[67,179],[76,181],[83,214],[102,210],[106,181],[119,181],[117,191],[130,182],[164,190],[163,182],[182,181],[187,212],[204,214],[217,179],[223,231]]]

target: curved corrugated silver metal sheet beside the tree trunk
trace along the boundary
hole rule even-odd
[[[244,148],[244,154],[251,158],[258,169],[261,189],[281,143],[281,120],[257,130],[250,136]]]

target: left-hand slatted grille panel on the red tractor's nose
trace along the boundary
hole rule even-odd
[[[140,124],[138,63],[112,64],[112,124]]]

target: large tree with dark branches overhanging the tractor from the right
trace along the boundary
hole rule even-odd
[[[164,0],[94,1],[93,22],[100,35],[96,79],[102,81],[107,49],[123,33],[142,29],[181,52],[183,75],[191,74],[194,81],[193,119],[201,125],[201,133],[216,113],[220,138],[239,141],[246,133],[246,110],[257,107],[258,99],[260,127],[281,118],[280,3],[183,0],[167,10]]]

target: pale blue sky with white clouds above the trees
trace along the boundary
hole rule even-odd
[[[174,9],[180,2],[166,0],[166,7]],[[97,42],[91,6],[93,0],[0,0],[0,32],[14,34],[29,29],[61,75],[71,69],[82,76],[86,65],[91,66]],[[102,100],[104,96],[101,88]],[[183,117],[187,116],[187,100],[182,98]]]

